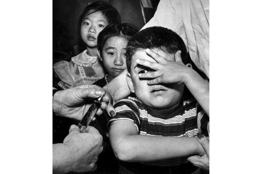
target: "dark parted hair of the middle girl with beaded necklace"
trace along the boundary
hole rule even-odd
[[[102,50],[107,39],[119,36],[129,40],[137,32],[138,29],[129,23],[107,25],[97,37],[97,49],[100,55],[102,55]]]

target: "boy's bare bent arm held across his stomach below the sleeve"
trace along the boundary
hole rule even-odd
[[[138,135],[134,122],[130,120],[111,122],[109,138],[116,157],[126,162],[147,162],[205,154],[195,137]]]

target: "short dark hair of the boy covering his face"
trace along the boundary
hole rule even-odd
[[[176,53],[181,50],[182,62],[188,63],[187,48],[183,39],[174,31],[153,26],[139,31],[129,40],[126,49],[126,65],[129,72],[132,56],[139,50],[158,48],[166,53]]]

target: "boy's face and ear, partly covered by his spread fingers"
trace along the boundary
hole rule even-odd
[[[160,49],[152,49],[155,53],[165,57],[167,60],[175,61],[175,55],[165,53]],[[152,57],[148,56],[145,50],[137,51],[131,60],[131,77],[127,74],[128,85],[131,92],[134,92],[137,98],[146,106],[153,108],[168,108],[179,104],[183,94],[184,84],[157,84],[148,85],[150,79],[141,79],[139,73],[146,73],[151,70],[147,67],[136,63],[136,59],[144,59],[151,62],[156,62]],[[131,79],[132,78],[132,79]]]

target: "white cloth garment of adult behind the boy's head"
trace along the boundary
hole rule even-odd
[[[209,78],[209,0],[161,0],[141,30],[162,26],[184,40],[195,65]]]

